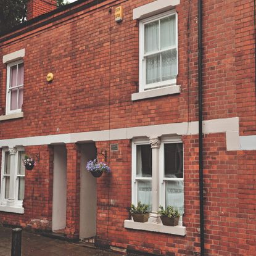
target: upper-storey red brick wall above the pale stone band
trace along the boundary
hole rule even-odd
[[[124,2],[125,16],[120,24],[115,23],[114,14],[109,14],[109,7],[112,6],[114,12],[118,1],[115,5],[107,2],[97,10],[91,7],[91,12],[83,10],[70,19],[43,27],[44,30],[35,30],[36,36],[24,33],[18,43],[10,40],[2,44],[3,55],[22,48],[26,51],[24,118],[14,120],[14,126],[0,123],[2,138],[23,136],[14,127],[22,128],[27,136],[36,136],[123,128],[138,123],[156,125],[197,120],[196,2],[181,1],[176,7],[181,94],[136,102],[131,101],[131,93],[138,91],[139,28],[138,22],[132,19],[132,10],[150,1]],[[247,66],[239,61],[241,53],[236,51],[240,51],[237,40],[246,38],[237,33],[237,22],[246,26],[249,20],[253,26],[253,8],[252,4],[247,7],[250,12],[244,14],[247,15],[244,23],[243,19],[231,15],[237,8],[231,0],[225,4],[204,2],[204,118],[238,115],[242,130],[252,130],[255,112],[253,40],[250,39],[247,46],[250,51],[242,53],[242,56],[249,56],[242,58],[250,61],[247,78],[250,83],[244,84],[245,80],[239,75],[237,68]],[[253,30],[248,33],[253,36]],[[4,70],[0,96],[4,113],[6,65],[0,65]],[[46,81],[49,72],[54,73],[52,83]],[[247,95],[249,101],[244,100]]]

